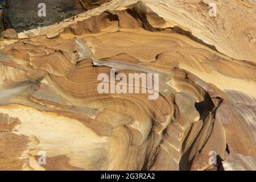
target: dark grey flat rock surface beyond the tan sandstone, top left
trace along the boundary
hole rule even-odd
[[[46,16],[40,17],[39,3],[46,4]],[[77,0],[8,0],[4,22],[17,32],[49,26],[84,11]]]

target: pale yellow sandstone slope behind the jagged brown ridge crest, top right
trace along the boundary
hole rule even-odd
[[[229,57],[255,63],[256,3],[252,0],[214,1],[217,6],[216,17],[209,16],[209,4],[212,2],[209,0],[159,0],[157,2],[155,0],[114,0],[97,9],[77,15],[76,18],[72,17],[54,26],[38,28],[38,30],[19,35],[20,38],[33,35],[47,35],[51,38],[68,24],[100,15],[106,10],[125,10],[137,2],[144,3],[152,12],[164,19],[164,22],[159,19],[154,20],[155,17],[151,17],[149,13],[148,19],[152,26],[177,27],[177,31],[182,34],[216,48]]]

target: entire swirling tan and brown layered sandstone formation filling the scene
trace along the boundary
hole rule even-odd
[[[115,0],[2,44],[0,169],[255,170],[254,30],[207,3]]]

